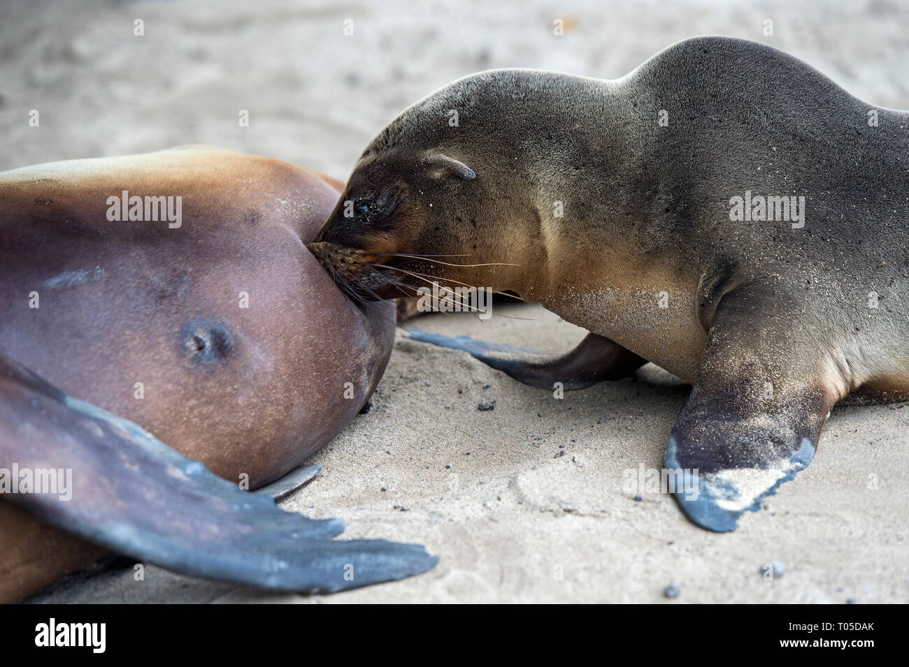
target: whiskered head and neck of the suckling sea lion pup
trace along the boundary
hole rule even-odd
[[[547,94],[534,81],[545,75],[474,74],[375,137],[309,246],[338,284],[367,300],[415,296],[433,281],[517,289],[519,266],[542,250],[525,155],[537,121],[524,112]]]

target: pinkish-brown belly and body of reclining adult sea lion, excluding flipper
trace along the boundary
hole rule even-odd
[[[199,147],[0,173],[0,351],[219,476],[284,475],[363,407],[394,341],[394,304],[356,306],[305,250],[328,181]],[[181,196],[182,225],[108,221],[124,190]],[[0,601],[99,554],[4,502],[0,535]]]

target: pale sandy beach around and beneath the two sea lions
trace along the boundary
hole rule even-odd
[[[410,8],[236,0],[0,10],[0,169],[208,143],[344,180],[376,132],[452,79],[521,66],[614,78],[695,34],[783,49],[854,95],[909,108],[909,8],[847,3],[479,1]],[[792,4],[794,5],[794,4]],[[556,38],[554,18],[566,32]],[[145,36],[136,37],[136,18]],[[343,34],[345,19],[355,34]],[[763,34],[764,20],[774,34]],[[39,127],[28,113],[41,112]],[[249,127],[237,114],[248,110]],[[532,304],[415,327],[565,351],[584,330]],[[647,365],[556,398],[463,352],[397,334],[368,414],[313,457],[282,504],[345,520],[343,538],[419,542],[427,574],[335,595],[252,591],[147,567],[83,575],[37,602],[905,603],[909,404],[834,409],[811,466],[716,535],[624,479],[662,466],[689,388]],[[494,409],[479,410],[484,398]],[[629,472],[630,471],[630,472]],[[765,566],[782,561],[768,578]],[[668,584],[679,594],[664,596]]]

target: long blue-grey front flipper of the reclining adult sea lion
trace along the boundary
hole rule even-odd
[[[420,574],[437,562],[418,544],[332,541],[341,521],[285,512],[268,495],[240,490],[133,422],[0,355],[0,467],[14,465],[71,469],[71,498],[15,493],[4,500],[180,574],[332,593]]]

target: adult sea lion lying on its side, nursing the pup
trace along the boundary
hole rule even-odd
[[[95,544],[285,590],[435,562],[325,544],[343,525],[238,488],[299,466],[385,370],[394,307],[357,306],[305,250],[337,194],[315,172],[199,147],[0,173],[0,492],[14,467],[72,470],[69,500],[0,495],[0,600]]]

